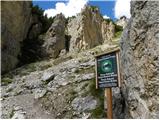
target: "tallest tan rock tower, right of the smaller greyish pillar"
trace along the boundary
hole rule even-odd
[[[108,26],[112,28],[109,30]],[[80,14],[69,20],[67,28],[68,35],[71,36],[69,51],[93,48],[114,36],[114,27],[104,21],[98,8],[90,6],[86,6]],[[108,31],[113,34],[108,36]]]

